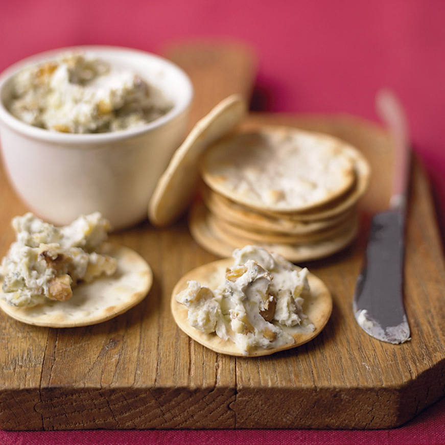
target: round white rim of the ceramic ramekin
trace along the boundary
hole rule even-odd
[[[140,127],[136,128],[130,128],[127,130],[110,131],[105,133],[62,133],[57,131],[51,131],[45,128],[35,127],[31,124],[27,124],[26,122],[20,121],[20,119],[13,116],[8,111],[2,100],[2,92],[5,84],[13,76],[15,76],[20,71],[20,69],[23,69],[26,66],[37,64],[39,63],[39,61],[44,61],[50,58],[54,58],[59,54],[73,52],[73,51],[89,51],[92,53],[125,52],[125,53],[132,53],[135,56],[155,59],[161,64],[168,66],[169,69],[174,71],[177,75],[179,75],[179,77],[183,79],[184,85],[186,86],[186,92],[184,98],[181,101],[176,101],[175,98],[172,98],[175,102],[173,108],[166,114],[160,116],[160,118],[157,118],[156,120],[149,122],[148,124],[141,125]],[[10,65],[0,74],[0,121],[3,121],[4,124],[6,124],[7,126],[9,126],[18,133],[39,140],[45,140],[47,142],[65,143],[65,144],[69,143],[73,145],[88,144],[88,143],[101,144],[110,142],[111,140],[121,140],[134,136],[139,136],[155,128],[163,126],[164,124],[175,119],[176,116],[180,115],[191,105],[193,95],[194,95],[193,84],[188,74],[186,74],[185,71],[178,65],[176,65],[175,63],[171,62],[170,60],[164,57],[142,50],[127,48],[125,46],[113,46],[113,45],[66,46],[64,48],[57,48],[54,50],[44,51],[26,57],[25,59],[21,59],[18,62]]]

